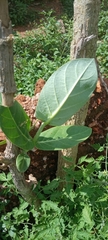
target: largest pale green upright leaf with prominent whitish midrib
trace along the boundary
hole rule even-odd
[[[42,89],[36,117],[52,126],[64,124],[87,102],[96,81],[94,59],[69,61],[52,74]]]

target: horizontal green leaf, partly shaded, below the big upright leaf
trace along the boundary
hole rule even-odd
[[[87,139],[91,132],[85,126],[57,126],[42,132],[35,146],[41,150],[70,148]]]

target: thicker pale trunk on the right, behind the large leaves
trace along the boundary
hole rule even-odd
[[[73,41],[71,43],[70,58],[95,58],[98,34],[98,16],[100,11],[100,0],[75,0],[74,1],[74,24]],[[88,110],[87,103],[66,125],[84,125]],[[76,164],[78,146],[71,149],[59,151],[57,177],[65,182],[65,171],[63,167],[73,167]],[[67,162],[63,159],[67,156],[72,159]]]

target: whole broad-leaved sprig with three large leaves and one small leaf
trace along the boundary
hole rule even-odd
[[[69,61],[54,72],[39,97],[35,115],[42,124],[34,138],[29,134],[30,119],[17,101],[11,107],[0,105],[0,127],[6,137],[22,149],[16,159],[20,172],[29,167],[27,152],[34,147],[60,150],[73,147],[90,136],[91,129],[86,126],[63,124],[88,101],[96,82],[96,64],[91,58]],[[44,131],[47,125],[53,127]]]

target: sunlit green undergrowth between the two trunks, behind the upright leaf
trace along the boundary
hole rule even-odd
[[[65,33],[61,33],[52,12],[43,12],[36,29],[19,35],[14,40],[14,72],[18,93],[32,95],[39,78],[47,80],[63,63],[69,60],[72,21],[63,18]]]

